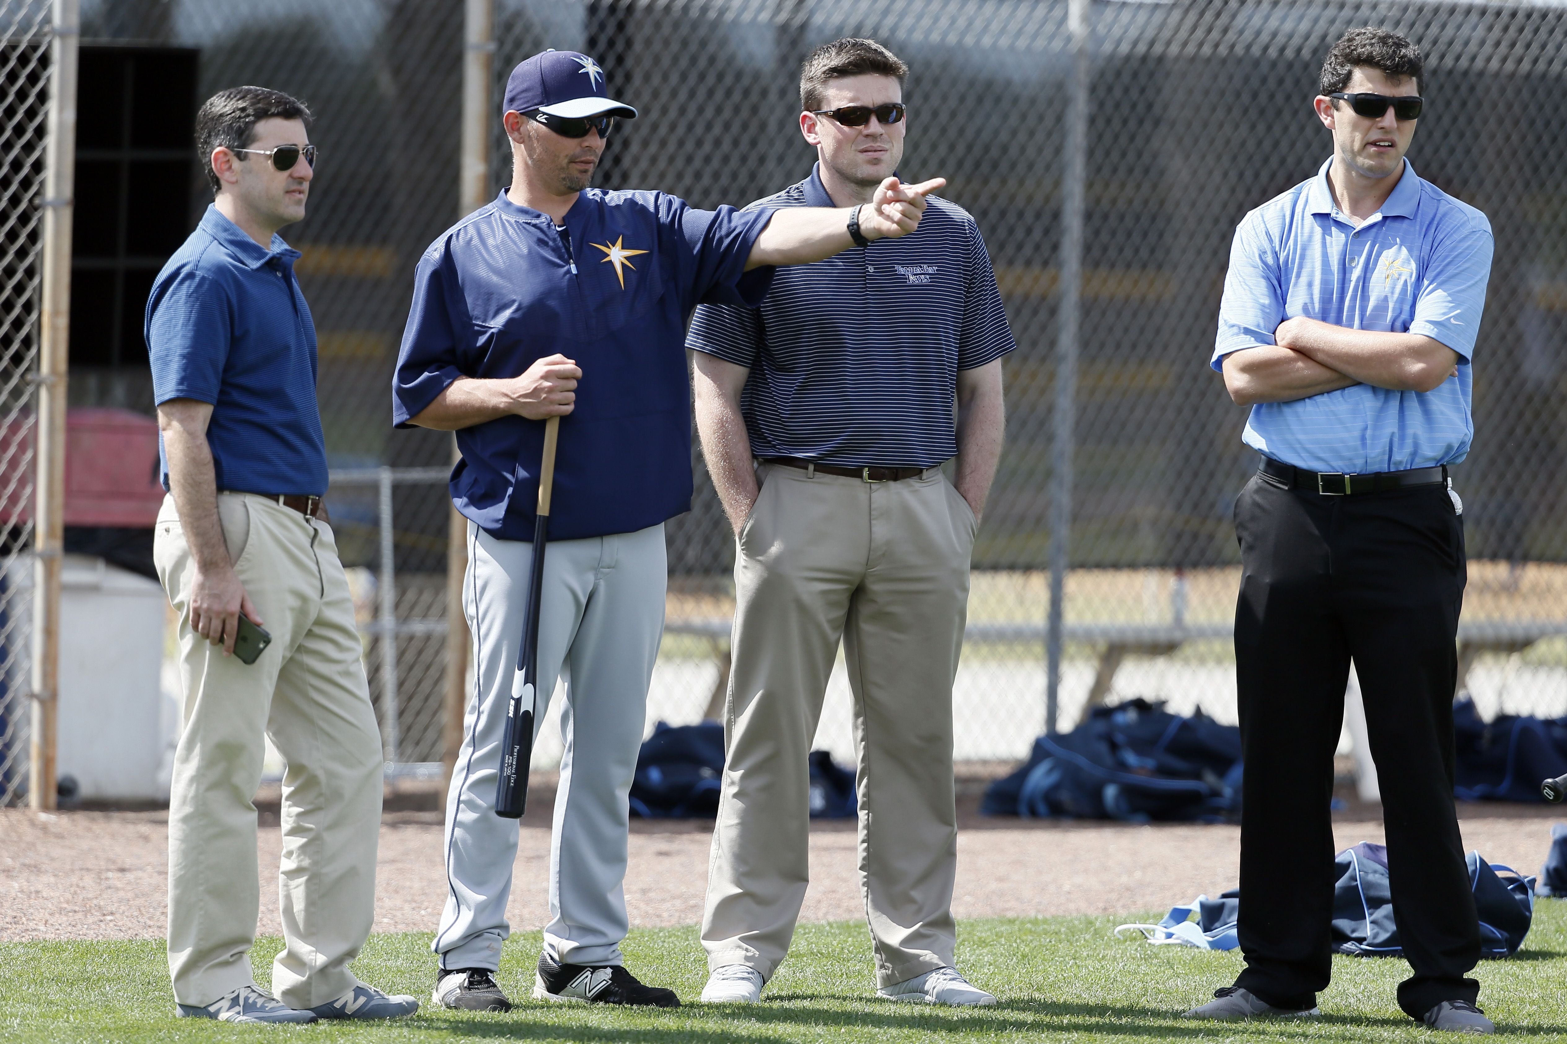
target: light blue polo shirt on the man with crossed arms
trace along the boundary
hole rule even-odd
[[[1246,445],[1312,471],[1401,471],[1457,463],[1475,435],[1470,357],[1486,307],[1492,235],[1486,214],[1404,174],[1359,227],[1316,177],[1246,214],[1230,250],[1213,368],[1272,344],[1285,319],[1421,333],[1459,355],[1434,391],[1352,385],[1294,402],[1260,402]]]

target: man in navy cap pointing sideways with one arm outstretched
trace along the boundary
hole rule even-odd
[[[588,55],[544,52],[512,70],[511,186],[425,252],[393,377],[396,424],[458,432],[451,495],[470,523],[475,693],[447,801],[448,897],[434,941],[434,997],[451,1008],[509,1008],[494,975],[511,931],[517,822],[494,801],[544,419],[563,418],[539,693],[547,703],[566,679],[566,750],[533,995],[672,1006],[672,991],[625,970],[621,941],[627,792],[663,634],[663,524],[691,502],[685,321],[699,301],[758,301],[771,266],[912,232],[925,193],[942,185],[887,178],[863,207],[777,218],[588,188],[614,121],[635,116]]]

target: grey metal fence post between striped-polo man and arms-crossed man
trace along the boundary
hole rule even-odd
[[[1066,578],[1072,549],[1072,457],[1077,449],[1078,308],[1083,291],[1083,178],[1087,149],[1089,8],[1072,0],[1072,75],[1067,80],[1061,169],[1061,257],[1056,283],[1056,415],[1050,443],[1050,620],[1045,629],[1045,731],[1056,731],[1061,706],[1061,646]]]

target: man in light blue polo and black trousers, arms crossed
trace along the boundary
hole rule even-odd
[[[1382,784],[1399,1006],[1490,1033],[1467,974],[1479,928],[1453,808],[1454,639],[1486,216],[1404,158],[1420,52],[1379,28],[1323,63],[1334,153],[1235,233],[1213,368],[1250,405],[1261,468],[1235,502],[1235,610],[1246,786],[1246,970],[1194,1017],[1315,1016],[1332,966],[1334,750],[1351,661]]]

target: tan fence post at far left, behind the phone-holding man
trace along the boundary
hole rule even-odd
[[[60,565],[66,542],[66,374],[71,346],[71,214],[77,163],[77,0],[55,0],[44,150],[44,301],[39,324],[33,509],[33,714],[28,801],[55,808],[60,715]]]

